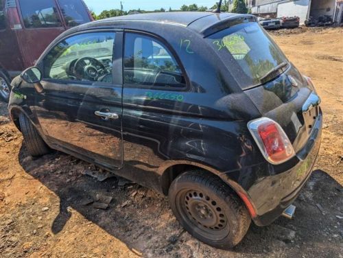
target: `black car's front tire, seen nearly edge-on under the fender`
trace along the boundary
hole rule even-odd
[[[21,126],[21,133],[24,137],[27,152],[29,152],[31,156],[42,156],[49,153],[49,147],[23,113],[19,115],[19,124]]]

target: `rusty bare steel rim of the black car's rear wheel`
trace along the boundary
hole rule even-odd
[[[224,210],[216,200],[202,191],[185,189],[177,195],[178,210],[183,220],[193,225],[196,233],[208,239],[224,239],[230,226]]]

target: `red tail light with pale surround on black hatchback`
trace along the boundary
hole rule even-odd
[[[292,143],[276,121],[261,117],[250,121],[248,129],[268,162],[281,164],[295,155]]]

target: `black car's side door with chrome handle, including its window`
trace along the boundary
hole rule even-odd
[[[38,65],[34,112],[55,148],[108,169],[123,165],[121,31],[64,38]]]

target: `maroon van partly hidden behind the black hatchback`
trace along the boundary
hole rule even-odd
[[[56,36],[93,21],[82,0],[0,0],[0,98],[10,81],[34,65]]]

